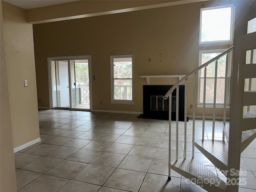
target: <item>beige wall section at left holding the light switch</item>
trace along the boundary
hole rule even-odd
[[[2,3],[12,137],[17,148],[39,138],[33,30],[24,9]]]

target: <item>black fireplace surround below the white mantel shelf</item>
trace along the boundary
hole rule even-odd
[[[169,98],[164,95],[172,85],[143,86],[143,118],[168,120]],[[184,85],[179,88],[179,121],[184,121]],[[176,89],[172,92],[172,120],[176,120]]]

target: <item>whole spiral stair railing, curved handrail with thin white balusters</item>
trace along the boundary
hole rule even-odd
[[[218,59],[222,56],[226,55],[226,76],[225,76],[225,93],[224,93],[224,117],[223,117],[223,123],[226,124],[226,98],[227,98],[227,91],[228,91],[228,81],[227,81],[227,74],[228,74],[228,58],[230,52],[233,50],[233,46],[229,48],[228,50],[224,51],[223,53],[219,54],[215,58],[212,58],[205,64],[199,66],[192,72],[190,72],[188,75],[184,76],[181,80],[179,80],[176,84],[168,90],[166,95],[164,96],[164,99],[168,99],[169,97],[169,165],[171,163],[171,119],[172,119],[172,92],[174,89],[176,89],[176,161],[178,161],[178,133],[179,133],[179,123],[178,123],[178,116],[179,116],[179,86],[183,82],[185,82],[185,98],[184,98],[184,159],[187,158],[186,154],[186,144],[187,144],[187,81],[188,78],[190,78],[192,75],[194,75],[194,90],[193,90],[193,132],[192,132],[192,142],[195,140],[195,117],[196,117],[196,73],[204,68],[204,97],[203,97],[203,124],[202,124],[202,140],[204,140],[204,122],[205,122],[205,108],[206,108],[206,67],[211,64],[212,62],[215,62],[215,76],[214,76],[214,102],[213,102],[213,124],[212,124],[212,140],[214,140],[214,127],[215,127],[215,112],[216,112],[216,88],[217,88],[217,70],[218,70]],[[222,140],[224,141],[224,132],[222,134]],[[192,158],[194,157],[194,143],[192,146]],[[168,169],[168,179],[170,180],[170,166]]]

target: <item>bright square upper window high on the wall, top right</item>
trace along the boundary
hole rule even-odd
[[[232,44],[233,42],[233,6],[219,6],[201,9],[200,46]]]

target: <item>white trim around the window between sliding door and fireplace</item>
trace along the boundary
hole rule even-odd
[[[132,100],[116,100],[114,99],[114,58],[132,58]],[[130,104],[133,105],[133,55],[117,55],[117,56],[110,56],[110,65],[111,65],[111,104]]]

